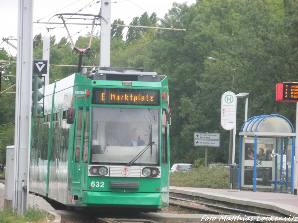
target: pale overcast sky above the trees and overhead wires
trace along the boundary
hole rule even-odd
[[[4,47],[8,53],[13,56],[16,55],[16,51],[4,43],[2,38],[17,38],[18,28],[18,4],[20,0],[0,0],[0,48]],[[30,1],[30,0],[27,0]],[[49,19],[57,13],[84,13],[97,15],[100,11],[101,2],[96,3],[98,0],[34,0],[33,1],[33,22],[38,20],[41,22],[48,22]],[[188,5],[195,3],[195,0],[105,0],[111,2],[111,23],[117,18],[124,21],[126,25],[133,20],[134,17],[140,17],[144,12],[150,16],[151,13],[156,12],[157,17],[163,18],[164,15],[172,8],[173,2],[184,3]],[[79,10],[82,10],[79,12]],[[57,16],[53,17],[50,22],[61,22]],[[72,20],[70,22],[86,21]],[[66,29],[60,25],[50,32],[46,28],[54,28],[58,25],[55,24],[33,24],[33,37],[36,34],[41,33],[44,35],[56,36],[56,43],[60,41],[62,37],[68,37]],[[91,26],[75,26],[68,25],[67,28],[71,35],[80,31],[80,34],[73,36],[75,41],[80,35],[84,36],[86,32],[91,32]],[[168,27],[170,28],[170,27]],[[175,28],[175,27],[174,27]],[[95,29],[95,32],[100,31],[100,27]],[[125,34],[126,35],[126,34]],[[125,36],[124,35],[124,36]],[[17,46],[16,41],[9,41],[13,45]]]

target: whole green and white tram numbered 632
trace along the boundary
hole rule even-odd
[[[168,95],[167,77],[145,68],[94,67],[46,86],[30,192],[67,208],[168,207]]]

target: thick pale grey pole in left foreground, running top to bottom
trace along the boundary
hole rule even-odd
[[[15,162],[13,210],[28,206],[31,89],[33,56],[33,0],[18,0],[18,46],[15,94]]]

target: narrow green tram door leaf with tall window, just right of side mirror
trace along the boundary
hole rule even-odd
[[[73,170],[72,170],[72,189],[79,189],[81,184],[81,165],[82,165],[82,123],[83,123],[83,106],[80,106],[77,112],[77,131],[73,156]]]

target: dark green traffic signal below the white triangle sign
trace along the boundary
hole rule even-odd
[[[44,111],[44,100],[42,103],[39,103],[39,101],[44,98],[44,90],[42,92],[39,90],[44,85],[44,81],[40,77],[43,78],[43,76],[33,74],[31,107],[32,117],[43,117],[43,114],[41,116],[38,115]]]

